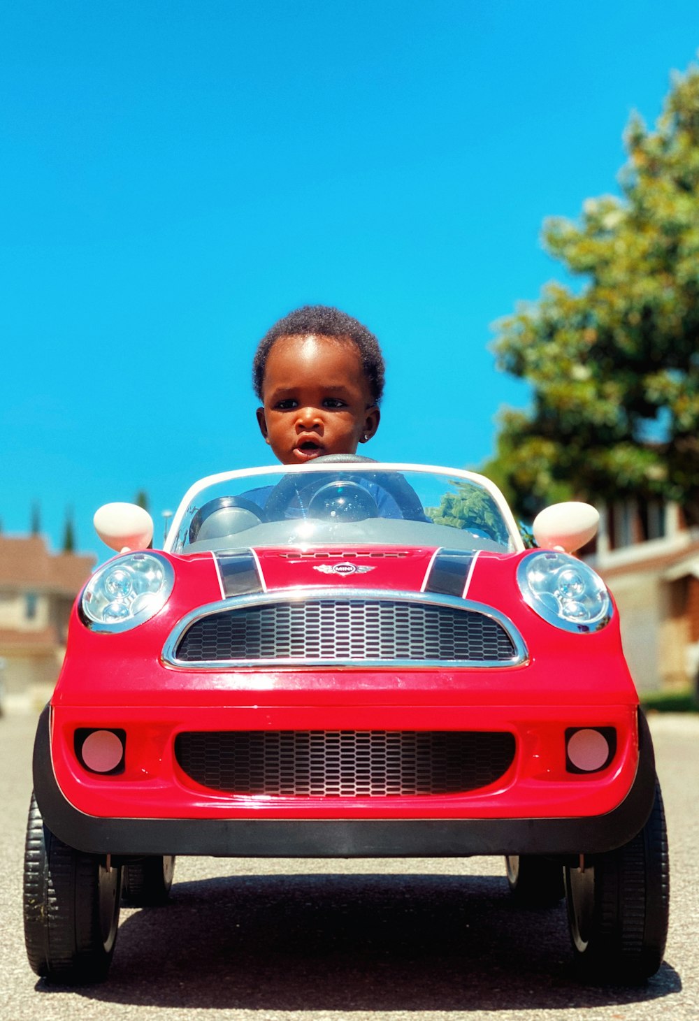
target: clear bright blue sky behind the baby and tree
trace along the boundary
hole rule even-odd
[[[306,303],[382,343],[364,452],[478,465],[527,400],[491,325],[560,277],[542,221],[616,190],[698,46],[689,0],[4,5],[3,530],[38,500],[55,548],[72,505],[102,556],[100,503],[270,464],[250,359]]]

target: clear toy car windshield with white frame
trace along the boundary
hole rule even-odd
[[[522,548],[507,504],[481,476],[376,463],[211,476],[185,496],[166,548],[186,553],[310,542]]]

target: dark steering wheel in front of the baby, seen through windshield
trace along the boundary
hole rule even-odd
[[[362,457],[356,453],[324,454],[322,457],[316,457],[314,464],[318,464],[321,460],[335,465],[357,463],[376,464],[374,457]],[[326,475],[324,472],[313,472],[309,479],[304,479],[300,473],[295,472],[291,475],[285,475],[274,487],[265,503],[265,514],[268,520],[281,521],[294,497],[299,497],[311,488],[317,491],[322,486],[327,486],[332,482],[354,482],[360,486],[366,485],[367,482],[373,482],[375,486],[378,486],[379,489],[382,489],[393,498],[405,521],[425,521],[425,513],[422,509],[422,504],[418,499],[417,493],[402,475],[393,472],[380,472],[377,474],[360,472],[356,475],[342,474],[339,478],[334,473]]]

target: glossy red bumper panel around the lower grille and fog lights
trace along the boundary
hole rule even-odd
[[[483,707],[473,704],[279,706],[262,693],[238,693],[234,707],[58,707],[53,709],[53,772],[79,811],[105,818],[192,819],[517,819],[596,816],[626,796],[638,764],[635,706]],[[258,704],[250,704],[252,697]],[[267,701],[270,704],[267,704]],[[75,750],[78,728],[126,731],[125,768],[100,776]],[[615,755],[599,773],[566,769],[565,731],[611,727]],[[272,731],[495,731],[514,735],[511,767],[495,783],[453,794],[401,797],[280,797],[230,794],[201,786],[175,756],[181,732]]]

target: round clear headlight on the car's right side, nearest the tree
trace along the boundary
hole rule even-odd
[[[567,553],[542,551],[517,568],[522,598],[549,624],[585,634],[611,620],[612,601],[599,575]]]

